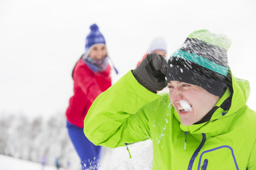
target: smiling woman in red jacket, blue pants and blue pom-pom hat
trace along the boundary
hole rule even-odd
[[[86,37],[85,53],[73,69],[74,95],[69,99],[66,112],[69,137],[81,159],[81,167],[97,168],[101,155],[101,146],[95,146],[84,135],[84,118],[94,99],[107,90],[112,82],[108,63],[108,51],[104,36],[98,26],[90,26]]]

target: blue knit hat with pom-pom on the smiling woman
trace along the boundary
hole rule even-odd
[[[94,44],[106,45],[104,36],[98,30],[98,26],[96,24],[90,25],[90,33],[88,34],[85,40],[85,53],[88,53],[90,47]]]

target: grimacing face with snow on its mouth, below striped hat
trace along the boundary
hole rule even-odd
[[[167,83],[170,100],[180,116],[181,124],[189,126],[200,121],[217,103],[220,97],[210,94],[202,87],[179,81]],[[185,100],[191,108],[184,110],[180,100]]]

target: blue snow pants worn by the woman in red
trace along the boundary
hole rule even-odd
[[[67,121],[69,137],[81,159],[82,169],[97,169],[100,160],[102,146],[95,146],[84,135],[84,129],[72,125]]]

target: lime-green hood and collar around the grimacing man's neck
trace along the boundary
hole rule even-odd
[[[203,124],[185,126],[180,124],[183,131],[190,133],[211,133],[212,135],[221,134],[224,127],[230,122],[229,117],[236,114],[247,103],[250,95],[250,84],[248,80],[235,78],[230,71],[232,77],[232,86],[229,86],[224,95],[215,105],[210,121]],[[231,102],[230,102],[231,101]],[[174,115],[180,121],[179,114],[174,109]]]

